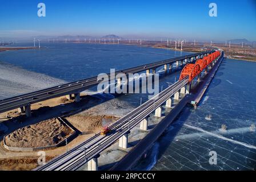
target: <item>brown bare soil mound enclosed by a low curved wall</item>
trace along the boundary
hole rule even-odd
[[[52,146],[61,142],[74,131],[57,118],[22,127],[6,136],[10,147],[34,148]]]

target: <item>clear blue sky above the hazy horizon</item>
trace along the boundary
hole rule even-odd
[[[46,5],[46,17],[37,5]],[[209,16],[209,4],[218,16]],[[0,38],[37,35],[256,40],[256,1],[0,0]]]

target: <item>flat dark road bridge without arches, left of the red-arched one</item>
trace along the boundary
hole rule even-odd
[[[165,71],[167,69],[171,69],[174,67],[174,64],[180,66],[185,65],[186,63],[192,63],[193,61],[202,58],[203,56],[209,55],[214,51],[205,51],[200,53],[194,53],[191,55],[175,57],[173,59],[167,59],[162,61],[157,61],[155,63],[145,64],[134,68],[123,69],[121,71],[115,72],[115,76],[118,73],[124,73],[128,75],[129,73],[139,73],[146,71],[147,74],[151,72],[154,74],[155,70],[158,67],[164,66]],[[169,65],[169,68],[168,68]],[[110,76],[110,73],[108,74]],[[86,78],[84,80],[69,82],[67,84],[53,86],[51,88],[46,88],[42,90],[38,90],[35,92],[30,92],[26,94],[21,94],[19,96],[6,98],[0,100],[0,113],[5,111],[18,109],[19,113],[26,113],[27,117],[31,116],[31,104],[49,100],[50,98],[67,96],[67,98],[71,99],[71,94],[74,94],[75,101],[80,101],[80,93],[86,89],[89,89],[98,84],[101,80],[97,80],[97,77]]]

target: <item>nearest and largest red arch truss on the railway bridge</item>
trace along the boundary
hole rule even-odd
[[[189,81],[193,80],[194,77],[198,76],[201,73],[201,67],[199,64],[186,64],[182,69],[181,76],[179,80],[182,80],[186,76],[189,76]]]

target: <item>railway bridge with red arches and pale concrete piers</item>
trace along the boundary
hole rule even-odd
[[[201,72],[211,68],[217,63],[220,57],[221,53],[215,51],[202,57],[202,60],[207,60],[206,65],[202,64],[203,61],[198,61],[198,63],[189,66],[191,69],[184,67],[179,81],[163,90],[157,96],[151,98],[151,100],[137,107],[129,114],[125,115],[125,117],[118,119],[117,122],[109,126],[109,129],[111,130],[109,134],[101,135],[98,133],[66,154],[54,158],[49,163],[39,166],[35,170],[75,170],[85,163],[88,163],[89,170],[97,170],[97,158],[103,150],[117,142],[117,140],[119,140],[119,147],[127,148],[128,134],[131,129],[140,124],[141,130],[147,130],[147,119],[149,115],[154,112],[156,117],[161,117],[162,105],[165,103],[166,107],[172,107],[173,101],[180,100],[181,94],[183,94],[183,96],[189,94],[191,82],[194,78],[200,78]]]

